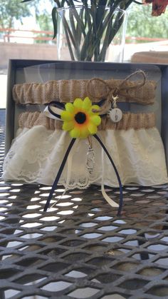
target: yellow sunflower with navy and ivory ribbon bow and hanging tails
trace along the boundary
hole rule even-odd
[[[51,198],[53,197],[53,192],[55,191],[55,189],[58,185],[58,181],[61,177],[61,173],[62,173],[65,163],[70,155],[70,150],[71,150],[71,148],[73,148],[76,138],[89,138],[90,135],[93,135],[93,137],[100,143],[100,146],[103,148],[103,151],[105,151],[107,157],[109,158],[109,160],[112,164],[112,167],[115,170],[115,174],[117,176],[117,181],[118,181],[119,187],[120,187],[120,203],[119,203],[119,205],[117,203],[115,203],[115,201],[112,201],[112,199],[109,196],[107,196],[103,185],[102,185],[102,193],[103,193],[105,200],[110,204],[110,206],[118,207],[117,216],[120,216],[120,213],[122,210],[122,201],[123,201],[122,200],[122,183],[120,180],[119,173],[117,172],[117,168],[115,167],[115,163],[112,161],[112,158],[111,158],[110,154],[108,153],[107,148],[105,148],[105,145],[103,144],[103,142],[100,140],[98,135],[96,135],[96,133],[98,131],[98,126],[100,125],[100,122],[101,122],[101,118],[98,115],[99,114],[98,110],[100,109],[102,101],[100,101],[100,103],[98,103],[98,104],[99,105],[92,105],[92,102],[87,97],[83,101],[80,98],[76,98],[74,103],[66,103],[65,106],[63,103],[53,101],[53,102],[49,103],[48,106],[45,108],[44,113],[46,114],[46,116],[63,121],[63,130],[69,131],[70,136],[72,137],[72,140],[70,141],[68,149],[65,152],[65,156],[64,156],[61,166],[58,170],[56,179],[53,182],[53,186],[51,188],[48,199],[46,201],[44,211],[47,211],[47,209],[48,209]],[[96,111],[96,112],[94,112],[94,111]]]

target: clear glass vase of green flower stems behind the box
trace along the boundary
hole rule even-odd
[[[28,2],[31,0],[23,0]],[[58,58],[78,61],[122,61],[125,11],[131,4],[152,4],[152,15],[164,13],[168,0],[54,0],[53,38]]]

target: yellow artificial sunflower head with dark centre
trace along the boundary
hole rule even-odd
[[[101,118],[98,112],[100,107],[92,105],[90,98],[84,100],[75,98],[73,103],[65,104],[65,111],[61,113],[63,130],[69,131],[72,138],[87,138],[97,133]]]

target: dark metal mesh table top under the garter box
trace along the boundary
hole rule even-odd
[[[167,185],[125,187],[120,218],[99,186],[69,191],[45,213],[50,188],[0,181],[1,299],[168,298]]]

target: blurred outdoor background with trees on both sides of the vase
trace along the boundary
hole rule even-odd
[[[9,59],[57,60],[51,11],[53,0],[1,0],[0,108],[6,106]],[[123,62],[168,63],[168,10],[151,16],[152,6],[132,4],[128,10]]]

